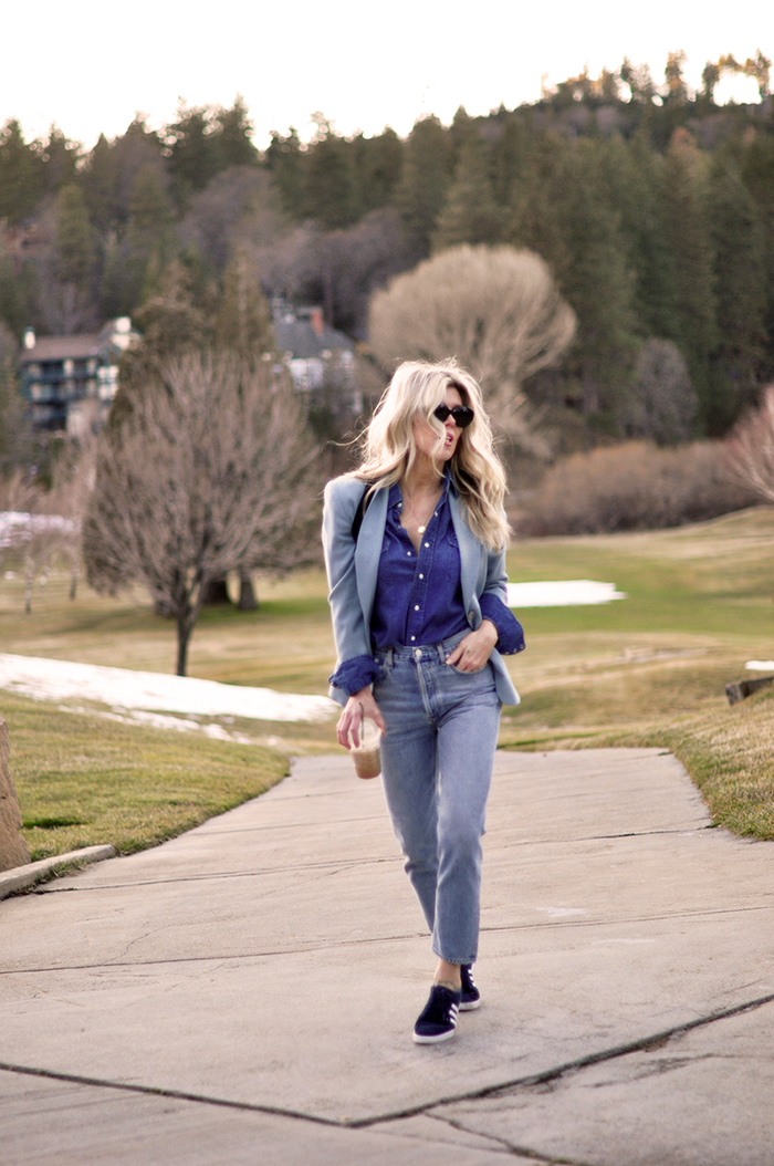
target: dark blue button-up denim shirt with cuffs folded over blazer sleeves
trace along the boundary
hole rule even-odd
[[[390,487],[371,618],[374,651],[437,644],[470,631],[460,586],[459,547],[449,506],[449,483],[446,476],[418,552],[401,526],[400,486]],[[498,630],[498,651],[502,655],[520,652],[523,633],[515,616],[497,596],[484,595],[480,604],[484,618],[491,619]],[[345,660],[331,676],[331,683],[351,695],[378,677],[375,660],[363,655]]]

